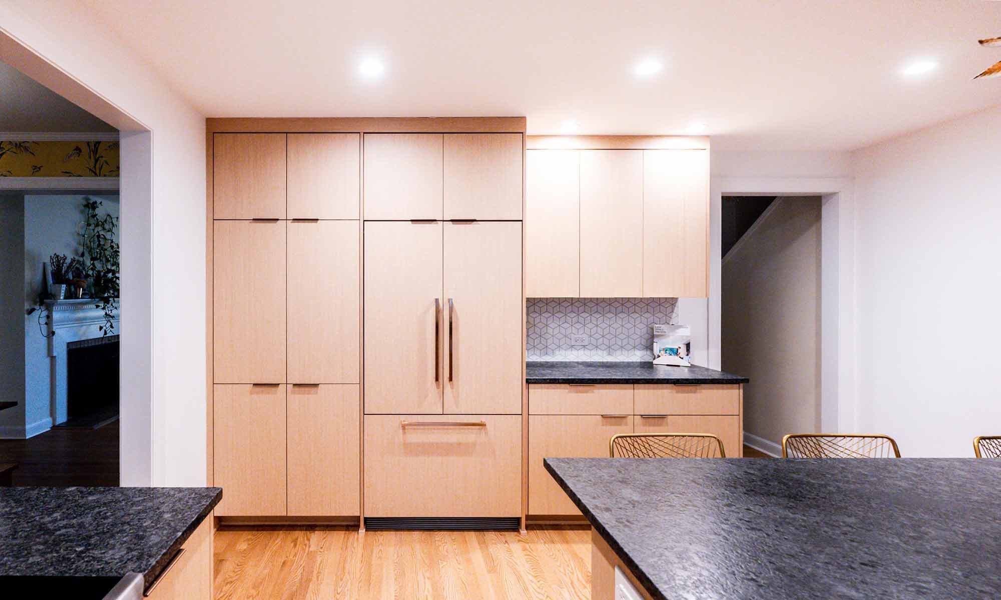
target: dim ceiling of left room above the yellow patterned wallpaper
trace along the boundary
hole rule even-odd
[[[0,131],[110,133],[118,130],[0,61]]]

